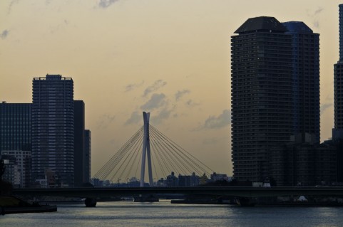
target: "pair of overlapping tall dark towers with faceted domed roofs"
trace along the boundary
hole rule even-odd
[[[302,22],[267,16],[248,19],[235,33],[233,172],[239,180],[263,181],[271,147],[298,134],[319,142],[319,35]]]

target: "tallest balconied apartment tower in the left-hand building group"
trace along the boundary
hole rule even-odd
[[[33,80],[32,175],[46,173],[56,186],[73,186],[73,80],[46,75]],[[53,173],[53,177],[51,177]]]

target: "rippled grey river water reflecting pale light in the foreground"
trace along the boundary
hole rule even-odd
[[[1,227],[52,226],[343,226],[343,207],[237,207],[108,202],[61,205],[55,213],[0,216]]]

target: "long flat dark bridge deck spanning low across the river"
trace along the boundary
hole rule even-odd
[[[136,196],[140,194],[193,194],[217,196],[343,196],[343,187],[95,187],[95,188],[54,188],[14,189],[18,196],[66,196],[81,198],[106,198],[109,196]]]

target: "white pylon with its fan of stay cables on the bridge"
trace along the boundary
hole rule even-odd
[[[150,113],[143,112],[144,125],[133,134],[106,164],[98,170],[93,179],[112,182],[127,182],[140,177],[140,186],[153,186],[154,179],[160,180],[171,173],[176,175],[210,176],[213,170],[195,156],[185,151],[149,124]],[[148,173],[145,167],[148,166]]]

